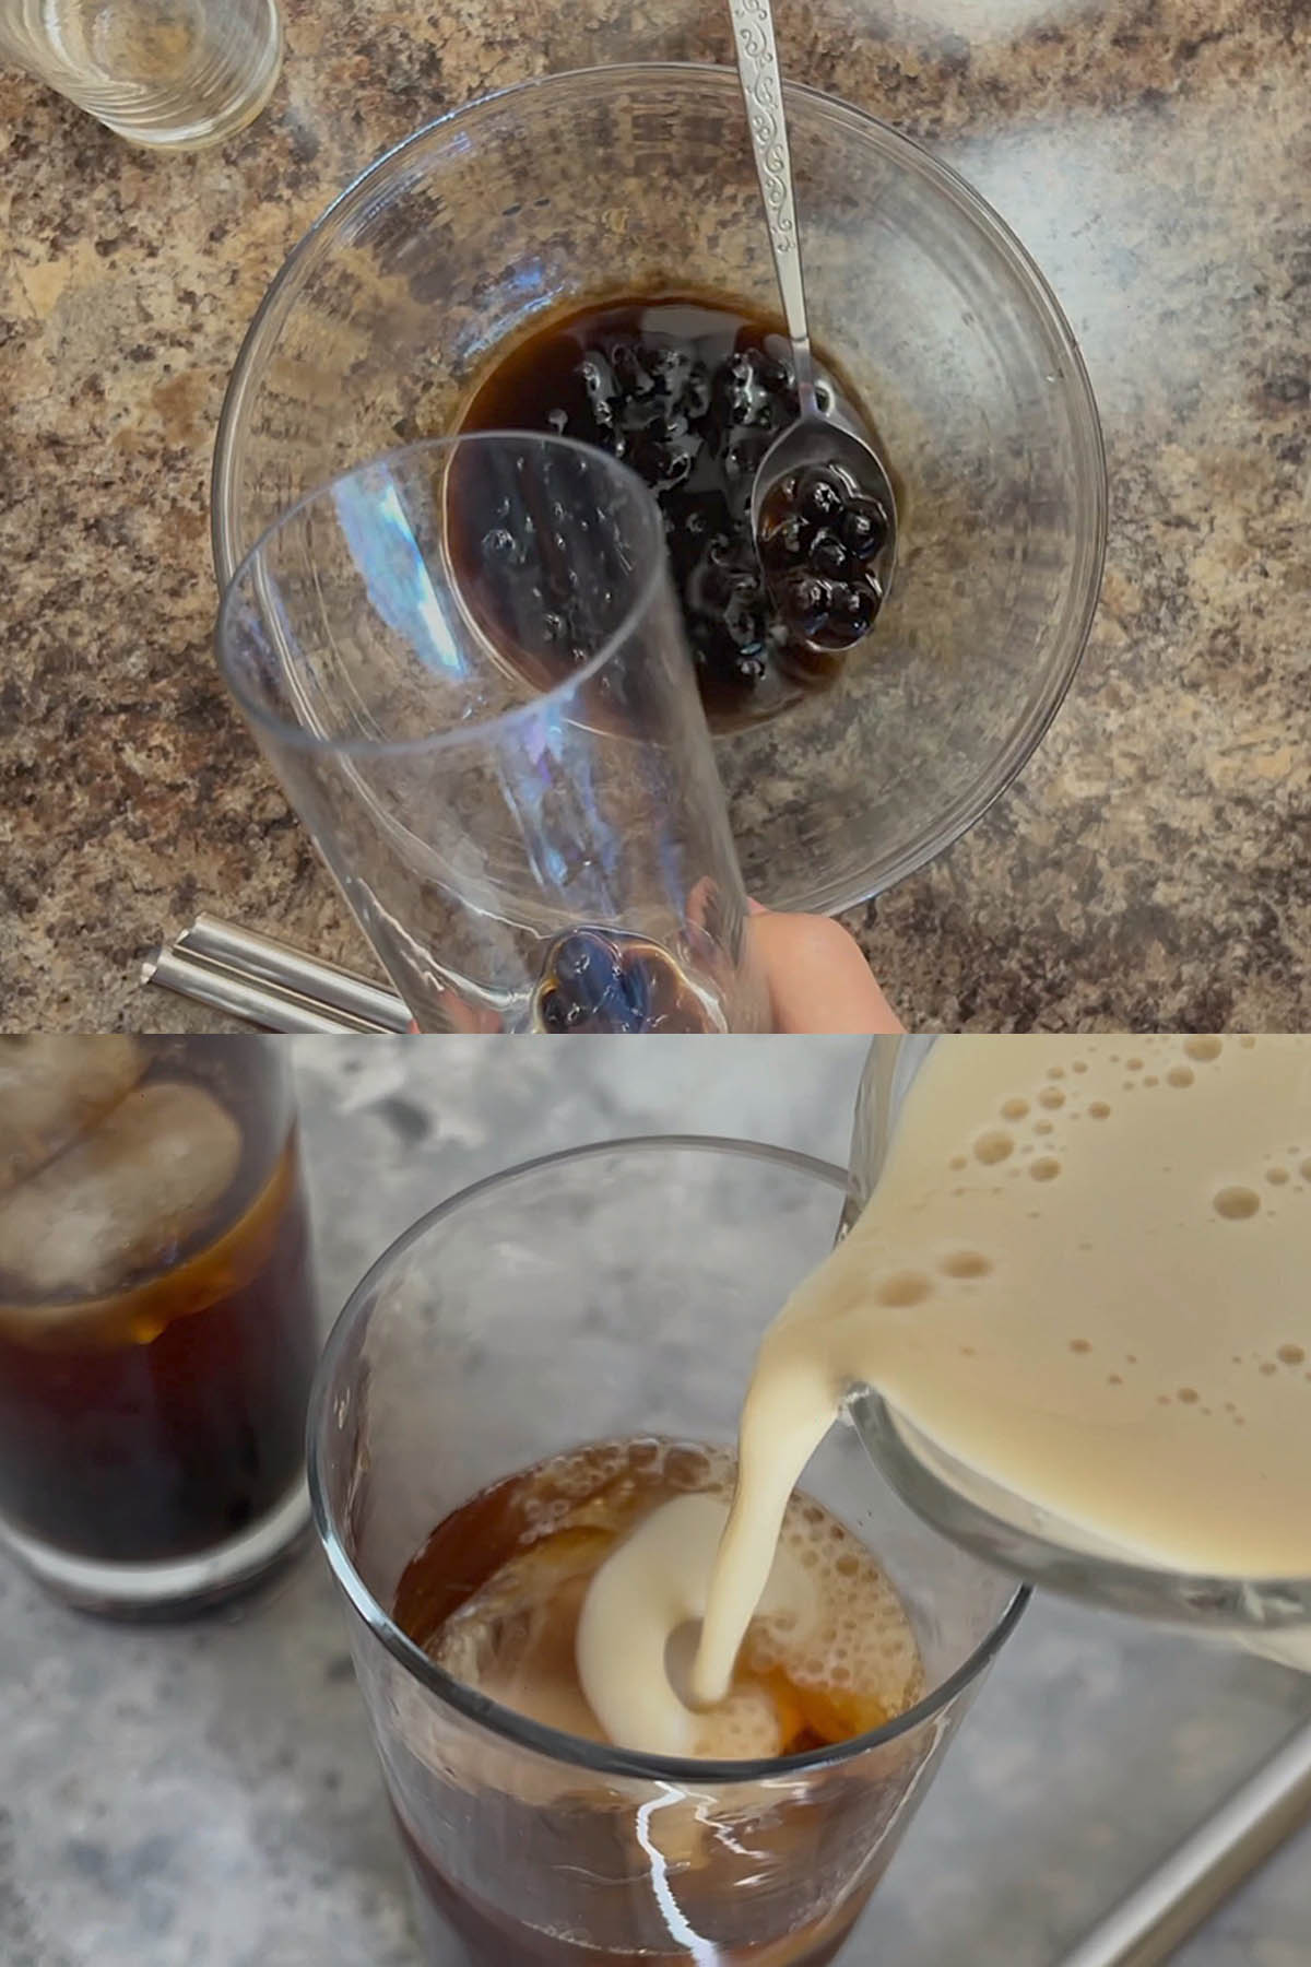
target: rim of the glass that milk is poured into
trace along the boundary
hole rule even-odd
[[[346,1546],[338,1534],[336,1522],[332,1520],[332,1511],[328,1507],[326,1485],[322,1475],[322,1438],[326,1434],[326,1424],[332,1408],[332,1381],[336,1377],[336,1367],[340,1353],[346,1343],[354,1338],[360,1318],[364,1316],[364,1306],[373,1290],[373,1286],[385,1277],[385,1273],[395,1265],[395,1261],[405,1255],[415,1243],[421,1241],[448,1216],[454,1216],[466,1202],[476,1196],[487,1196],[497,1188],[511,1186],[529,1174],[537,1174],[542,1168],[558,1166],[560,1162],[594,1161],[599,1155],[633,1153],[633,1151],[655,1151],[655,1153],[712,1153],[712,1155],[735,1155],[747,1161],[769,1161],[774,1166],[792,1168],[796,1174],[812,1176],[829,1188],[847,1192],[847,1174],[843,1168],[835,1166],[831,1161],[820,1161],[816,1155],[804,1155],[788,1147],[772,1147],[763,1141],[741,1141],[729,1135],[698,1135],[698,1133],[649,1133],[649,1135],[625,1135],[617,1141],[588,1141],[580,1147],[556,1149],[550,1155],[537,1155],[531,1161],[515,1162],[509,1168],[499,1168],[493,1174],[482,1176],[478,1182],[470,1182],[466,1188],[456,1190],[454,1196],[446,1196],[434,1208],[419,1216],[409,1229],[403,1229],[387,1249],[370,1265],[356,1288],[346,1298],[342,1312],[338,1314],[332,1332],[324,1343],[314,1373],[314,1383],[309,1397],[309,1422],[307,1422],[307,1461],[309,1461],[309,1493],[311,1509],[314,1517],[314,1528],[322,1544],[324,1556],[332,1570],[332,1576],[350,1603],[352,1611],[370,1629],[373,1639],[391,1654],[391,1658],[405,1668],[411,1680],[436,1696],[446,1707],[454,1707],[456,1713],[464,1715],[466,1721],[487,1729],[493,1735],[513,1743],[519,1749],[527,1749],[535,1755],[544,1755],[554,1762],[566,1762],[578,1768],[592,1770],[594,1774],[605,1776],[629,1776],[641,1778],[645,1782],[674,1782],[682,1786],[696,1784],[729,1784],[729,1782],[763,1782],[770,1778],[788,1778],[810,1774],[824,1768],[835,1768],[843,1762],[851,1762],[865,1755],[869,1749],[879,1749],[884,1743],[898,1741],[902,1735],[912,1733],[926,1721],[940,1715],[957,1694],[965,1692],[979,1676],[993,1664],[1000,1646],[1014,1631],[1020,1613],[1028,1605],[1030,1587],[1016,1583],[1010,1597],[1002,1605],[1002,1611],[991,1623],[985,1637],[977,1646],[961,1660],[951,1674],[947,1674],[932,1692],[928,1692],[914,1707],[896,1715],[883,1727],[869,1729],[865,1735],[853,1735],[849,1741],[831,1743],[824,1749],[810,1749],[800,1755],[784,1755],[755,1760],[696,1760],[692,1757],[662,1757],[662,1755],[643,1755],[631,1749],[615,1749],[609,1743],[590,1743],[580,1735],[568,1735],[564,1729],[546,1727],[544,1723],[531,1721],[527,1715],[515,1713],[513,1707],[503,1707],[485,1694],[478,1694],[474,1688],[464,1686],[444,1668],[423,1652],[421,1646],[409,1639],[401,1627],[395,1623],[391,1613],[377,1603],[364,1578],[356,1570],[354,1560],[346,1552]],[[973,1552],[971,1552],[973,1556]],[[981,1570],[991,1570],[998,1581],[1006,1581],[1006,1574],[997,1566],[989,1566],[975,1556]]]

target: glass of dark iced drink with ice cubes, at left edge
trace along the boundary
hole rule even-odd
[[[285,1054],[0,1041],[0,1540],[106,1613],[208,1603],[309,1522],[316,1355]]]

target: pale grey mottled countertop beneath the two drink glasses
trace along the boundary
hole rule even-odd
[[[586,1139],[688,1125],[845,1159],[863,1046],[780,1074],[704,1052],[297,1044],[324,1308],[423,1208]],[[790,1048],[796,1060],[800,1048]],[[360,1168],[370,1180],[360,1180]],[[208,1621],[67,1613],[0,1560],[6,1967],[417,1967],[399,1851],[326,1566]],[[1054,1967],[1305,1717],[1311,1684],[1038,1601],[951,1747],[855,1963]],[[1307,1967],[1311,1831],[1177,1955]]]

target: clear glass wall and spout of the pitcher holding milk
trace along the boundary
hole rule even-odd
[[[896,1115],[916,1072],[932,1046],[951,1043],[873,1041],[857,1096],[847,1225],[879,1184]],[[998,1037],[989,1043],[1026,1041]],[[989,1564],[1107,1611],[1187,1625],[1248,1652],[1311,1670],[1311,1578],[1195,1578],[1136,1562],[1105,1538],[1093,1538],[1079,1524],[979,1475],[879,1395],[853,1401],[851,1418],[896,1493],[936,1530]]]

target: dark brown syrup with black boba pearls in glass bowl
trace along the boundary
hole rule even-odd
[[[818,384],[869,429],[831,366],[818,364]],[[770,321],[715,297],[670,295],[552,317],[501,354],[460,427],[572,437],[647,482],[664,517],[702,700],[713,726],[731,728],[829,683],[883,600],[871,568],[888,515],[824,470],[788,484],[788,509],[770,515],[767,586],[751,488],[796,409],[788,340]],[[560,673],[592,651],[572,633],[566,590],[546,596],[546,631]]]

